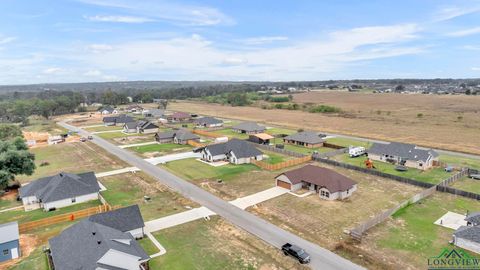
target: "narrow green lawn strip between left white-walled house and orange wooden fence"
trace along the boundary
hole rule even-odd
[[[23,208],[20,208],[18,210],[12,210],[12,211],[0,213],[0,224],[10,222],[10,221],[15,221],[15,220],[18,221],[19,223],[24,223],[28,221],[34,221],[42,218],[47,218],[47,217],[52,217],[60,214],[73,212],[73,211],[78,211],[78,210],[82,210],[82,209],[86,209],[86,208],[90,208],[98,205],[101,205],[101,202],[99,200],[94,200],[94,201],[75,204],[68,207],[63,207],[50,212],[45,212],[43,211],[43,209],[37,209],[33,211],[24,211]]]

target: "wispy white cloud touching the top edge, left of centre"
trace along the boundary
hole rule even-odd
[[[169,21],[191,26],[233,24],[234,20],[220,10],[202,5],[188,5],[156,0],[78,0],[80,2],[122,9],[150,20]]]

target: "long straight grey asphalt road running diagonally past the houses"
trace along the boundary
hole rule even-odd
[[[91,135],[90,133],[77,128],[75,126],[66,124],[64,122],[58,123],[60,126],[72,131],[78,132],[81,136]],[[270,245],[280,248],[283,244],[289,242],[296,244],[305,249],[311,256],[309,266],[312,269],[363,269],[362,267],[346,260],[339,255],[324,249],[312,242],[309,242],[301,237],[287,232],[265,220],[259,218],[247,211],[244,211],[211,193],[183,180],[168,171],[152,165],[135,154],[117,147],[116,145],[98,137],[93,136],[93,142],[104,148],[111,154],[124,160],[132,166],[141,169],[144,173],[154,177],[162,184],[170,187],[172,190],[182,194],[184,197],[197,202],[213,212],[217,213],[224,219],[245,231],[257,236]]]

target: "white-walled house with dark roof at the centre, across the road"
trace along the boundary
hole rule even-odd
[[[262,160],[263,153],[252,144],[239,139],[211,144],[202,149],[202,160],[207,162],[225,160],[232,164],[244,164],[250,163],[251,159]]]

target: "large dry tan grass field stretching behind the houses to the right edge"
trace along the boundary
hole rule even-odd
[[[480,154],[480,96],[319,91],[296,94],[294,101],[336,106],[343,113],[312,114],[186,101],[171,102],[169,109]]]

